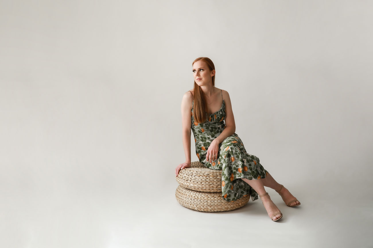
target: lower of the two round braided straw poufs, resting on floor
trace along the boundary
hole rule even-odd
[[[243,196],[233,202],[223,199],[221,192],[199,192],[179,185],[176,188],[176,200],[189,209],[201,212],[222,212],[238,209],[250,199],[250,195]]]

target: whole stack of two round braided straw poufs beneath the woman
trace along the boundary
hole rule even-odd
[[[176,181],[176,200],[184,207],[202,212],[221,212],[238,209],[250,199],[250,195],[227,202],[222,197],[222,170],[212,170],[199,161],[179,171]]]

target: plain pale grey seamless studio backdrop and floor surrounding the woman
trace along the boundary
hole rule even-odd
[[[371,1],[1,1],[1,247],[372,247]],[[175,199],[209,57],[247,152],[302,203]],[[191,136],[191,157],[197,161]]]

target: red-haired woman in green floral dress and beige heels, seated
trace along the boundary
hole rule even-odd
[[[266,171],[259,158],[246,152],[235,133],[231,99],[227,91],[215,87],[215,66],[211,59],[200,57],[192,63],[194,89],[187,91],[182,99],[182,132],[186,160],[175,169],[191,167],[190,135],[194,135],[196,154],[207,168],[222,170],[222,197],[232,202],[250,194],[258,195],[273,221],[282,218],[282,213],[272,202],[264,186],[276,190],[286,205],[300,202]],[[220,109],[219,109],[220,107]],[[224,121],[225,123],[224,123]]]

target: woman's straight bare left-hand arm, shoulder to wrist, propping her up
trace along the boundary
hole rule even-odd
[[[190,91],[185,92],[181,101],[182,138],[185,152],[185,162],[191,162],[190,136],[191,136],[191,107],[193,96]]]

